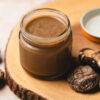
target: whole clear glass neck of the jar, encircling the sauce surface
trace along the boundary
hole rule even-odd
[[[48,16],[56,16],[56,17],[58,16],[65,23],[66,30],[63,33],[61,33],[60,36],[53,37],[53,38],[43,38],[43,37],[31,35],[26,32],[25,25],[30,20],[38,16],[45,16],[45,15],[47,16],[47,14]],[[70,34],[71,34],[71,28],[70,28],[70,22],[69,22],[68,17],[62,12],[55,9],[45,8],[45,9],[33,10],[23,17],[21,26],[20,26],[21,39],[23,39],[25,42],[29,43],[30,45],[39,46],[39,47],[53,47],[53,46],[61,45],[67,41]]]

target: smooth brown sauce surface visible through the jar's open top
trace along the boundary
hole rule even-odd
[[[66,30],[66,26],[59,18],[42,16],[31,20],[25,29],[29,34],[43,38],[52,38],[62,35]]]

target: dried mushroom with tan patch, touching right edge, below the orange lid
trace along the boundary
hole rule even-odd
[[[90,65],[94,69],[100,69],[100,51],[96,52],[90,48],[79,52],[79,61],[82,65]]]

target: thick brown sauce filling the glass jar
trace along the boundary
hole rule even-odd
[[[56,38],[67,30],[61,19],[56,17],[42,16],[28,22],[25,31],[28,34],[49,38]],[[28,42],[28,41],[26,41]],[[29,45],[29,44],[28,44]],[[58,47],[39,48],[19,42],[20,62],[23,68],[35,76],[57,76],[68,71],[71,64],[72,35]]]

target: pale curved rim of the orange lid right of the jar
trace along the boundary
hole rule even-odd
[[[84,18],[85,18],[89,13],[92,13],[92,12],[94,12],[94,11],[96,11],[96,10],[100,10],[100,8],[94,8],[94,9],[91,9],[91,10],[88,10],[87,12],[85,12],[85,13],[83,14],[83,16],[81,17],[80,24],[81,24],[81,27],[84,29],[84,31],[85,31],[87,34],[89,34],[89,35],[91,35],[91,36],[93,36],[93,37],[95,37],[95,38],[100,39],[100,36],[95,36],[95,35],[91,34],[91,32],[89,32],[88,29],[85,28],[85,26],[83,25]]]

